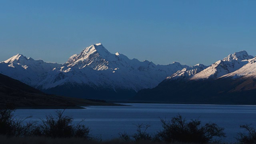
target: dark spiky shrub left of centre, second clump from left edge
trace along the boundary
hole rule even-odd
[[[36,128],[34,135],[37,136],[49,136],[52,138],[67,138],[67,137],[79,137],[90,138],[90,129],[84,125],[73,124],[72,116],[64,116],[63,111],[57,110],[56,117],[52,115],[46,116],[46,120],[42,120],[42,124]]]

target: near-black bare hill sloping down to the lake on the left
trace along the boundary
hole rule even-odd
[[[16,108],[81,108],[90,105],[115,105],[79,98],[49,95],[18,80],[0,74],[0,107]]]

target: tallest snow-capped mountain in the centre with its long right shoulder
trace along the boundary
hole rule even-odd
[[[187,67],[178,62],[165,66],[155,65],[147,60],[131,60],[119,52],[111,54],[102,44],[93,44],[85,48],[80,54],[71,56],[64,65],[51,72],[57,72],[58,78],[50,80],[52,77],[49,76],[49,80],[45,81],[42,88],[75,82],[114,90],[118,88],[138,91],[142,88],[154,88],[167,76]]]

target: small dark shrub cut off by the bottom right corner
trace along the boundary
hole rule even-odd
[[[246,133],[239,132],[236,140],[241,144],[256,144],[256,131],[251,124],[241,125],[240,128],[244,128]]]

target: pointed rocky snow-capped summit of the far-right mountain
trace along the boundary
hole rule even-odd
[[[250,56],[245,50],[240,52],[235,52],[234,54],[228,55],[226,58],[223,59],[223,61],[242,61],[242,60],[249,60],[254,58],[254,56]]]

